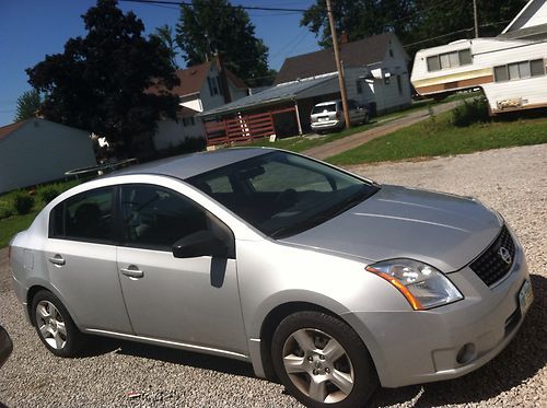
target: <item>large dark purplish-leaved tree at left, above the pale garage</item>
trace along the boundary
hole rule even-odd
[[[106,137],[115,154],[132,155],[135,137],[151,138],[162,116],[176,117],[178,101],[166,91],[178,82],[168,49],[144,38],[142,21],[115,0],[98,0],[82,19],[86,36],[27,69],[28,82],[45,94],[47,119]]]

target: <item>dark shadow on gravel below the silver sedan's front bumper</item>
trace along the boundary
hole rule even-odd
[[[547,279],[532,275],[531,280],[535,302],[513,341],[492,361],[456,380],[396,389],[381,388],[371,405],[412,401],[414,407],[431,407],[479,403],[532,378],[547,363]]]

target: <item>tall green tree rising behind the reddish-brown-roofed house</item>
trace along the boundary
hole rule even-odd
[[[268,48],[255,36],[255,26],[241,7],[226,0],[194,0],[181,5],[176,42],[188,66],[222,55],[235,75],[257,86],[268,78]],[[269,80],[269,81],[268,81]]]

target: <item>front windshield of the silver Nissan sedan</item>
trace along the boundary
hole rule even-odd
[[[306,231],[379,187],[300,155],[275,151],[187,179],[272,238]]]

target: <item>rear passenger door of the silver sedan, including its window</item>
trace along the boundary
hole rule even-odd
[[[43,254],[50,283],[81,327],[131,334],[117,272],[114,202],[107,187],[57,205]]]

